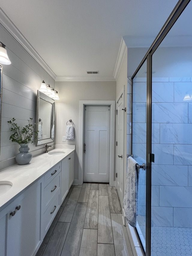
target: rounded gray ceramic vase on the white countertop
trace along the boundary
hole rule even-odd
[[[29,143],[20,144],[19,153],[15,156],[15,160],[17,164],[23,165],[23,164],[29,164],[29,162],[32,159],[32,153],[29,152]]]

